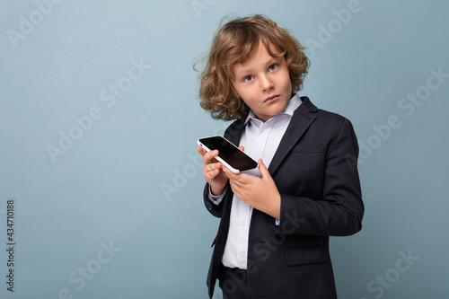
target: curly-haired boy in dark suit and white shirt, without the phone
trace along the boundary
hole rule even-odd
[[[237,119],[225,137],[259,169],[235,174],[203,156],[207,210],[221,218],[207,276],[224,298],[336,298],[329,236],[357,233],[364,205],[351,123],[295,92],[309,60],[260,15],[216,33],[201,77],[201,107]],[[357,159],[356,159],[357,160]],[[267,168],[268,167],[268,168]]]

